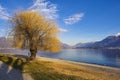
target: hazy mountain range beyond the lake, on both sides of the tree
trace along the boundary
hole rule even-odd
[[[0,48],[12,48],[12,37],[0,37]],[[63,49],[69,48],[120,48],[120,33],[97,42],[78,43],[75,46],[62,43]]]

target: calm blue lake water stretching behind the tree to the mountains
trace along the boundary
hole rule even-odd
[[[24,54],[29,51],[24,50],[0,50],[0,53]],[[59,53],[46,53],[38,51],[38,56],[48,58],[59,58],[76,62],[98,64],[120,68],[120,50],[110,49],[64,49]]]

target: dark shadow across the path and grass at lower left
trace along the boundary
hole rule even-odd
[[[27,61],[20,57],[17,59],[7,57],[7,60],[0,62],[0,80],[23,80],[22,71],[26,63]],[[8,65],[12,65],[13,68]]]

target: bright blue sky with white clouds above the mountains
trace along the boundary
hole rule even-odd
[[[58,24],[63,43],[94,42],[120,33],[120,0],[0,0],[0,36],[17,10],[34,10]]]

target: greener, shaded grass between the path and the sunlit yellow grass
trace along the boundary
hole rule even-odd
[[[54,63],[50,61],[34,60],[27,62],[26,58],[10,55],[0,55],[0,61],[30,74],[34,80],[88,80],[80,76],[56,71]]]

